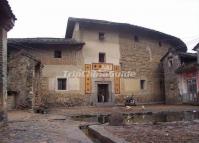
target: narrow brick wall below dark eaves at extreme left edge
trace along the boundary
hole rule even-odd
[[[0,126],[7,120],[7,32],[0,26]]]

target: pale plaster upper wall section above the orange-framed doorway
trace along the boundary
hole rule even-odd
[[[105,33],[105,39],[99,40],[99,32]],[[80,28],[82,41],[86,44],[83,47],[84,63],[98,63],[99,53],[106,53],[106,63],[119,65],[120,46],[119,34],[114,30]]]

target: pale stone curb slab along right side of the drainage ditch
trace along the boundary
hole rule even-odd
[[[95,136],[98,136],[103,143],[129,143],[123,138],[119,138],[104,129],[104,125],[91,125],[88,130],[92,131]]]

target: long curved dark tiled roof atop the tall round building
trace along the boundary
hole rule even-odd
[[[75,23],[78,22],[80,24],[87,24],[88,26],[96,26],[96,25],[102,25],[102,26],[111,26],[112,28],[115,28],[117,30],[122,30],[126,29],[130,33],[131,32],[136,32],[140,34],[145,34],[149,37],[155,37],[159,39],[160,41],[168,42],[175,46],[175,48],[179,51],[186,52],[187,46],[186,44],[179,38],[174,37],[172,35],[168,35],[156,30],[144,28],[141,26],[137,25],[132,25],[128,23],[117,23],[117,22],[110,22],[110,21],[105,21],[105,20],[95,20],[95,19],[86,19],[86,18],[73,18],[69,17],[68,18],[68,24],[66,28],[66,38],[71,38],[73,30],[74,30],[74,25]]]

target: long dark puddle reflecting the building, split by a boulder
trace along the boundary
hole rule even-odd
[[[161,113],[138,113],[124,114],[124,123],[154,123],[154,122],[173,122],[173,121],[192,121],[199,119],[199,112],[161,112]],[[101,124],[109,122],[110,115],[80,115],[73,116],[76,121],[98,122]]]

